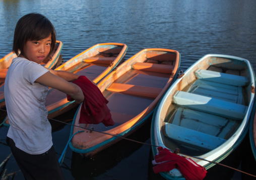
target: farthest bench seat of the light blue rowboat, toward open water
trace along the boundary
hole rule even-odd
[[[237,76],[233,74],[226,74],[203,69],[197,70],[195,75],[198,79],[204,79],[206,81],[228,84],[232,86],[245,86],[248,83],[247,77],[244,76]]]

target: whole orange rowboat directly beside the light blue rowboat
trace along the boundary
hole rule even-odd
[[[144,49],[123,62],[98,84],[109,101],[107,106],[115,125],[92,124],[90,126],[99,132],[75,134],[83,130],[77,127],[79,107],[73,120],[76,126],[70,134],[71,137],[75,134],[69,143],[71,149],[90,156],[120,140],[116,136],[125,137],[137,130],[152,115],[157,102],[175,79],[179,64],[179,53],[168,49]]]

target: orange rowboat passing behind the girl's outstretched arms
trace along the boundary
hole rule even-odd
[[[84,75],[98,83],[123,60],[126,50],[127,46],[121,43],[97,44],[58,66],[55,70]],[[78,104],[75,101],[68,101],[67,94],[50,89],[45,99],[45,106],[48,110],[48,118],[53,118],[73,109]],[[9,123],[8,117],[5,123]]]

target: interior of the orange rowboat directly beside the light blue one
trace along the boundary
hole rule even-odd
[[[105,84],[108,85],[102,92],[109,101],[107,106],[115,125],[105,127],[101,123],[92,125],[94,129],[99,131],[112,129],[149,108],[173,76],[175,61],[175,53],[146,51],[134,57],[131,64],[119,68],[122,75],[117,75],[118,78],[115,80],[110,79],[106,82]]]

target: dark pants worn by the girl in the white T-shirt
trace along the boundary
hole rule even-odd
[[[53,146],[42,154],[28,154],[17,148],[13,139],[7,137],[7,141],[25,179],[65,179]]]

